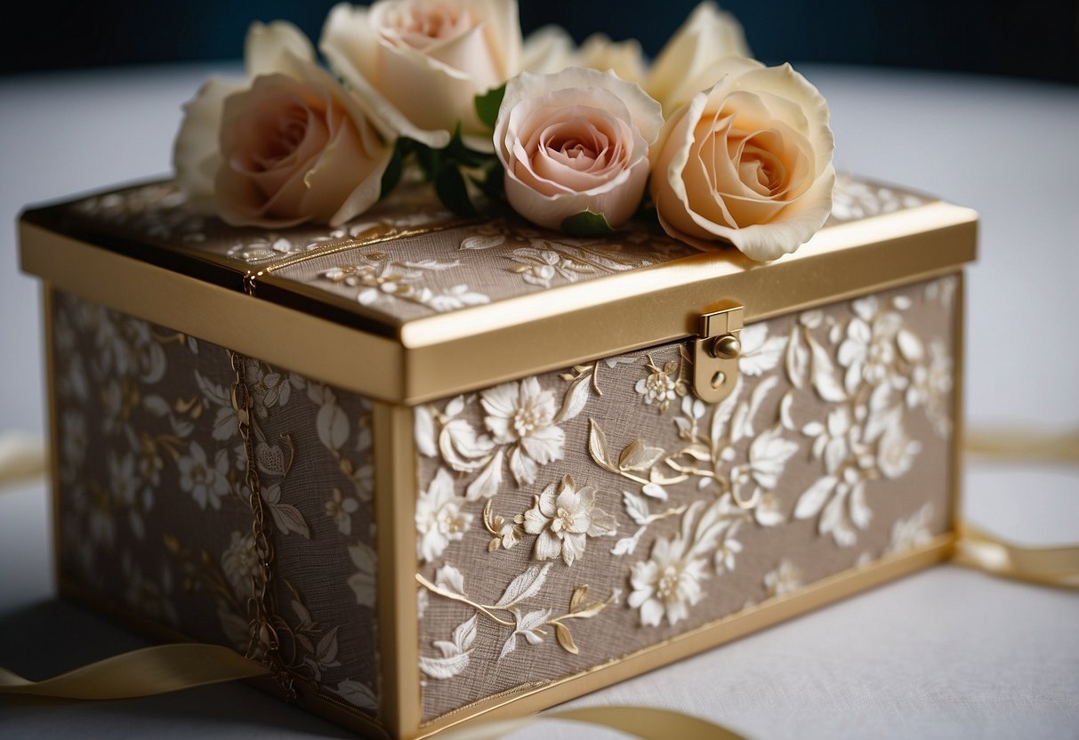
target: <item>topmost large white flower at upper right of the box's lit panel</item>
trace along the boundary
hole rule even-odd
[[[903,326],[894,312],[877,313],[875,297],[855,301],[855,318],[847,325],[847,335],[839,344],[839,365],[847,369],[844,386],[853,394],[862,381],[882,383],[896,361],[896,338]]]

